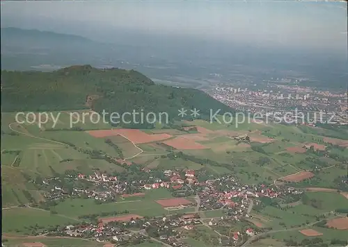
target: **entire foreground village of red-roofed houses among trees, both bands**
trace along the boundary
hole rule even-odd
[[[44,178],[42,181],[33,182],[45,187],[47,191],[45,203],[48,204],[50,201],[62,201],[65,198],[92,198],[97,204],[111,203],[124,200],[127,196],[145,196],[146,191],[150,190],[168,189],[173,192],[173,199],[162,200],[163,207],[168,210],[192,207],[194,212],[152,218],[127,214],[127,211],[118,212],[127,214],[118,217],[101,218],[95,214],[91,218],[85,218],[90,220],[89,223],[60,226],[56,230],[45,230],[37,234],[93,238],[98,242],[111,242],[118,246],[140,243],[149,238],[170,246],[187,246],[182,241],[186,237],[185,232],[195,229],[198,225],[214,227],[223,221],[252,218],[250,212],[254,205],[260,203],[258,199],[281,198],[289,194],[302,193],[284,185],[242,185],[232,175],[198,182],[196,171],[193,170],[162,172],[164,175],[162,178],[155,178],[149,173],[147,179],[132,182],[97,172],[90,175],[82,173],[65,175],[63,180],[72,182],[68,185],[62,182],[62,178]],[[127,194],[129,191],[132,194]],[[191,201],[184,198],[187,195],[191,196]],[[225,216],[209,219],[200,215],[201,212],[214,210],[223,210]],[[248,236],[255,234],[257,234],[255,229],[248,228],[244,232],[232,232],[232,236],[221,235],[216,241],[219,240],[218,242],[224,243],[225,246],[237,246],[241,241],[246,241]]]

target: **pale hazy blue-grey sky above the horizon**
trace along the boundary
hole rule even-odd
[[[347,53],[342,2],[1,1],[1,26],[89,36],[123,28]]]

